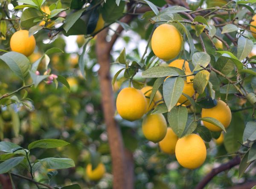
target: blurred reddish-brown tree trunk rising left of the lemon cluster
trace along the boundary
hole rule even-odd
[[[110,76],[110,50],[108,49],[108,42],[105,40],[107,32],[107,29],[100,32],[96,40],[96,55],[100,65],[99,83],[102,94],[102,108],[112,157],[113,189],[128,189],[125,182],[127,180],[127,167],[122,134],[114,119],[115,105]]]

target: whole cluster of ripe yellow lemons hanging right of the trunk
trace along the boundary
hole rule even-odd
[[[175,26],[162,24],[158,26],[151,40],[151,46],[154,54],[165,61],[176,58],[180,53],[183,39],[180,32]],[[189,63],[182,59],[177,59],[169,64],[170,67],[177,67],[184,70],[186,75],[191,75]],[[192,96],[195,93],[192,80],[194,76],[187,76],[184,81],[183,93]],[[143,117],[142,131],[145,138],[149,141],[159,144],[161,151],[167,154],[175,154],[177,161],[181,166],[188,169],[196,169],[201,166],[207,155],[204,140],[197,134],[189,134],[185,137],[178,138],[172,131],[171,127],[167,127],[167,122],[163,114],[150,114],[151,109],[155,108],[163,97],[160,91],[154,96],[153,102],[149,104],[149,98],[152,93],[151,86],[145,86],[141,90],[133,87],[122,89],[116,99],[116,109],[119,115],[126,120],[134,121]],[[195,96],[197,98],[197,96]],[[190,102],[183,95],[178,99],[178,104],[185,106]],[[231,122],[231,111],[228,105],[221,101],[217,101],[217,105],[213,108],[202,109],[202,117],[212,117],[221,122],[227,128]],[[171,123],[170,123],[171,124]],[[203,122],[204,126],[210,131],[221,131],[217,126]],[[173,126],[173,125],[172,125]],[[174,125],[175,126],[175,125]],[[217,144],[223,141],[223,134],[216,140]]]

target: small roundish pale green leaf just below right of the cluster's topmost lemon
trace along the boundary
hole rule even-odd
[[[195,54],[192,55],[192,64],[195,66],[193,72],[201,70],[202,67],[207,67],[210,61],[211,57],[206,52],[195,52]]]

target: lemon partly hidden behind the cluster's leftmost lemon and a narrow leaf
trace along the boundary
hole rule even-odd
[[[152,88],[151,86],[145,86],[141,89],[141,92],[143,92],[143,94],[148,97],[146,98],[147,101],[147,109],[145,111],[145,113],[147,113],[149,110],[152,110],[155,107],[155,103],[157,102],[157,105],[160,103],[158,101],[160,101],[161,99],[163,99],[162,94],[157,90],[153,102],[151,103],[151,105],[149,105],[149,100],[150,100],[150,96],[152,93]]]

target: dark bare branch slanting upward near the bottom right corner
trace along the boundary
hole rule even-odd
[[[240,162],[241,162],[241,158],[239,156],[236,156],[229,162],[224,163],[221,166],[212,169],[212,171],[209,172],[203,178],[203,180],[200,181],[200,183],[198,183],[198,185],[195,187],[195,189],[203,189],[207,185],[207,183],[209,183],[212,180],[212,178],[215,177],[217,174],[219,174],[223,171],[229,170],[236,165],[239,165]]]

